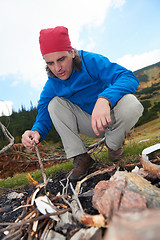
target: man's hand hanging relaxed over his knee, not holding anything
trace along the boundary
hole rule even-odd
[[[110,105],[105,98],[98,98],[92,112],[92,128],[97,136],[99,131],[104,132],[105,127],[111,123]]]

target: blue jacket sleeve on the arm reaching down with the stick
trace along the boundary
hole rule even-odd
[[[51,129],[51,118],[48,112],[48,104],[51,99],[55,97],[54,90],[51,86],[51,80],[48,80],[43,88],[43,91],[40,95],[40,100],[38,103],[38,115],[36,117],[36,122],[33,124],[32,131],[37,130],[40,135],[42,141]]]

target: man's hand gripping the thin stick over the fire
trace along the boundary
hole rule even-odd
[[[35,143],[39,143],[40,138],[38,131],[27,130],[22,135],[22,143],[26,148],[33,148]]]

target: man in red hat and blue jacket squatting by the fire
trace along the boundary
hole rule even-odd
[[[132,94],[138,79],[108,58],[72,48],[68,29],[43,29],[40,49],[46,62],[48,81],[38,104],[38,115],[22,143],[32,148],[42,141],[53,123],[67,158],[73,158],[71,179],[85,176],[93,164],[79,133],[104,137],[111,160],[123,155],[126,134],[142,115],[143,107]]]

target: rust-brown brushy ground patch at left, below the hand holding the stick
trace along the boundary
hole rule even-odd
[[[54,155],[51,149],[39,144],[38,150],[41,159],[51,159],[43,162],[45,168],[57,163],[57,157],[62,156],[62,159],[58,160],[58,163],[66,161],[63,152],[56,152],[54,154],[56,157],[53,159]],[[35,150],[28,150],[21,143],[14,144],[8,151],[0,154],[1,179],[13,177],[16,173],[31,172],[36,169],[39,169],[39,162]]]

